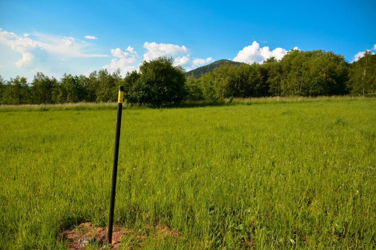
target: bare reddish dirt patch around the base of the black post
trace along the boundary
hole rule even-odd
[[[174,238],[180,238],[180,234],[166,226],[157,226],[153,230],[155,232],[156,238],[167,238],[168,236]],[[120,239],[123,236],[130,235],[132,240],[132,245],[135,248],[141,247],[145,244],[146,236],[139,235],[135,233],[132,229],[125,229],[119,226],[114,226],[112,232],[112,244],[107,244],[107,229],[104,227],[94,227],[91,223],[81,223],[78,227],[72,227],[65,229],[62,233],[63,241],[67,242],[67,246],[71,250],[85,250],[85,246],[79,244],[79,241],[82,241],[86,238],[94,237],[96,241],[102,240],[104,244],[107,244],[108,247],[105,249],[118,249],[120,248]]]

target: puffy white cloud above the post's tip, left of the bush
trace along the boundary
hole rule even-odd
[[[115,50],[111,49],[112,56],[117,57],[117,58],[112,59],[110,64],[107,64],[103,66],[102,68],[108,69],[110,73],[114,72],[116,69],[119,68],[121,71],[121,75],[123,77],[127,74],[128,71],[130,72],[130,71],[136,70],[135,66],[130,65],[131,63],[136,62],[136,59],[134,56],[134,53],[136,52],[130,46],[127,48],[127,50],[128,49],[129,50],[132,49],[133,55],[128,52],[121,51],[120,48],[116,48]]]

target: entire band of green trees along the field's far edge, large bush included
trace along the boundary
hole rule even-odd
[[[163,105],[183,100],[221,100],[261,96],[375,95],[376,55],[365,51],[348,63],[332,51],[289,51],[281,60],[270,57],[262,64],[222,64],[196,79],[166,56],[144,61],[139,72],[122,78],[120,69],[88,76],[64,74],[60,80],[42,72],[31,82],[17,76],[0,76],[0,104],[51,104],[115,102],[118,86],[130,104]]]

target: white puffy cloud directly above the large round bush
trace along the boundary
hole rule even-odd
[[[145,42],[144,48],[147,49],[144,54],[144,60],[150,61],[159,56],[190,56],[190,50],[184,45],[180,47],[179,45],[174,44],[157,44],[156,42]]]

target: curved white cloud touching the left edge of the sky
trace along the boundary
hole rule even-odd
[[[47,58],[47,53],[44,48],[39,46],[35,41],[30,38],[17,36],[13,32],[0,29],[0,43],[22,54],[22,59],[15,62],[17,67],[33,67],[36,63],[45,61]]]

